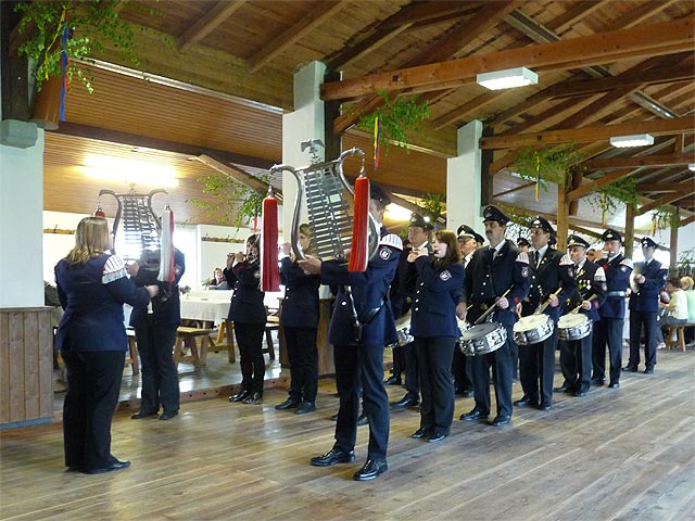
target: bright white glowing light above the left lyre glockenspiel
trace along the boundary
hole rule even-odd
[[[176,170],[173,166],[147,161],[87,154],[81,169],[86,176],[105,181],[147,185],[157,188],[178,186]]]

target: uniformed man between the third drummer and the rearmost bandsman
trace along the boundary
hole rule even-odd
[[[606,382],[606,344],[610,359],[610,389],[620,386],[620,369],[622,367],[622,326],[626,318],[626,291],[630,287],[632,260],[620,253],[622,237],[616,230],[604,231],[604,251],[606,257],[595,264],[606,272],[606,302],[598,308],[601,320],[594,330],[592,346],[593,373],[591,381],[596,385]]]

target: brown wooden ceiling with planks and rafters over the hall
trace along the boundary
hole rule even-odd
[[[75,86],[66,124],[47,134],[45,206],[93,211],[98,189],[114,187],[79,178],[84,154],[132,155],[139,147],[177,169],[177,215],[211,223],[185,201],[201,196],[197,179],[214,170],[190,158],[212,156],[251,176],[281,162],[292,75],[318,60],[342,73],[324,85],[324,99],[351,103],[333,125],[343,148],[371,154],[353,113],[372,110],[377,90],[428,101],[431,116],[410,136],[409,153],[391,147],[370,173],[395,193],[444,193],[456,129],[481,119],[492,201],[556,214],[553,190],[536,202],[533,187],[506,167],[523,147],[573,143],[585,156],[577,194],[634,176],[643,208],[674,203],[690,218],[694,14],[691,0],[129,2],[119,15],[146,29],[136,53],[148,80],[124,74],[129,64],[114,49],[96,56],[104,64],[94,68],[94,93]],[[488,91],[475,82],[477,73],[522,65],[539,74],[538,85]],[[653,147],[608,142],[645,131]],[[586,204],[573,219],[602,220]],[[608,223],[622,227],[624,217]]]

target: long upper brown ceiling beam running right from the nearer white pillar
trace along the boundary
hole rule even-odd
[[[645,25],[614,30],[552,43],[540,43],[452,60],[430,63],[362,78],[331,81],[321,86],[325,101],[348,100],[377,90],[393,91],[410,87],[434,90],[442,82],[475,81],[476,75],[509,67],[527,66],[538,71],[598,65],[616,61],[672,54],[695,47],[693,20]]]

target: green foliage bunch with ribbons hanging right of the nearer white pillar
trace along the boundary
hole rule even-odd
[[[377,91],[383,98],[383,105],[370,114],[359,116],[357,126],[369,132],[374,131],[375,120],[379,117],[381,130],[379,132],[379,144],[387,147],[393,142],[396,147],[408,150],[407,130],[420,130],[420,122],[430,115],[428,102],[417,102],[417,96],[401,96],[395,99],[389,98],[386,91]]]

